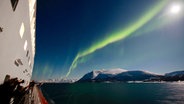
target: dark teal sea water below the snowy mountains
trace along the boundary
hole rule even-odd
[[[184,104],[184,83],[43,84],[50,104]]]

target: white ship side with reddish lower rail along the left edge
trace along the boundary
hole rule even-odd
[[[1,85],[8,75],[29,86],[35,57],[36,6],[36,0],[0,0]],[[24,103],[44,104],[39,88],[34,87],[32,92],[34,98],[27,95],[31,101]]]

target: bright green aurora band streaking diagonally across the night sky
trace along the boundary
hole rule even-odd
[[[83,51],[79,51],[76,57],[74,58],[66,77],[68,77],[72,70],[74,70],[78,64],[85,62],[85,56],[94,53],[95,51],[104,48],[105,46],[123,40],[126,37],[130,36],[132,33],[140,29],[147,22],[149,22],[157,13],[162,10],[164,5],[166,4],[166,0],[160,0],[160,2],[155,5],[151,10],[147,11],[141,18],[139,18],[136,22],[129,25],[127,28],[124,28],[120,31],[109,34],[107,37],[101,39],[98,42],[95,42],[90,47],[86,48]]]

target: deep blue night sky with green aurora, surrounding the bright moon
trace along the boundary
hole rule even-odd
[[[182,0],[37,0],[33,78],[184,70]],[[173,5],[181,6],[172,13]]]

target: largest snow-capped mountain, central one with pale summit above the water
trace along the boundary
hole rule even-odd
[[[79,82],[92,82],[92,81],[142,81],[161,75],[148,72],[148,71],[127,71],[124,69],[111,69],[111,70],[96,70],[85,74]]]

